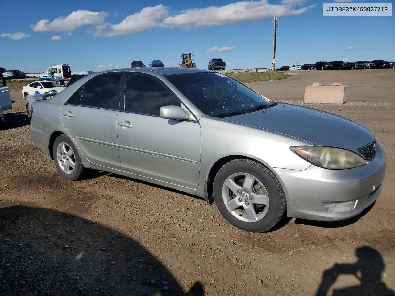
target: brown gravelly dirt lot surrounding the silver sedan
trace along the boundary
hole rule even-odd
[[[251,84],[293,103],[313,82],[346,84],[348,103],[312,107],[365,124],[387,154],[369,212],[342,223],[291,219],[266,234],[235,229],[203,200],[114,174],[66,181],[33,146],[25,100],[12,91],[0,130],[0,294],[315,296],[348,287],[341,295],[387,295],[395,290],[394,81],[395,70],[383,69]]]

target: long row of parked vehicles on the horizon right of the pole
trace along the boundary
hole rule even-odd
[[[392,68],[395,69],[395,62],[387,62],[384,60],[359,60],[356,62],[345,62],[345,61],[318,61],[315,64],[303,64],[282,66],[276,71],[289,71],[289,70],[354,70],[354,69],[384,69]]]

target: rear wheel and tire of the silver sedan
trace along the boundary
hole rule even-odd
[[[83,178],[86,169],[73,142],[66,135],[60,135],[53,144],[53,158],[56,169],[67,180],[77,181]]]

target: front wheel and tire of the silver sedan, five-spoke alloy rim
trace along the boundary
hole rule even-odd
[[[213,195],[222,216],[249,232],[273,229],[286,212],[285,193],[275,174],[249,159],[226,163],[214,178]]]

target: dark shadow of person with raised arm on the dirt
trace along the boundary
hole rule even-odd
[[[361,285],[333,290],[332,296],[395,296],[382,282],[385,264],[380,253],[372,247],[360,247],[355,251],[358,261],[355,264],[335,264],[325,270],[316,296],[327,296],[340,275],[354,275]]]

